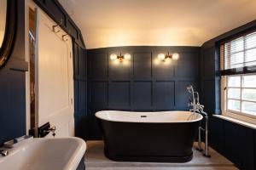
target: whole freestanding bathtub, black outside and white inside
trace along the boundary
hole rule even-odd
[[[104,153],[113,161],[186,162],[202,116],[190,111],[98,111]]]

